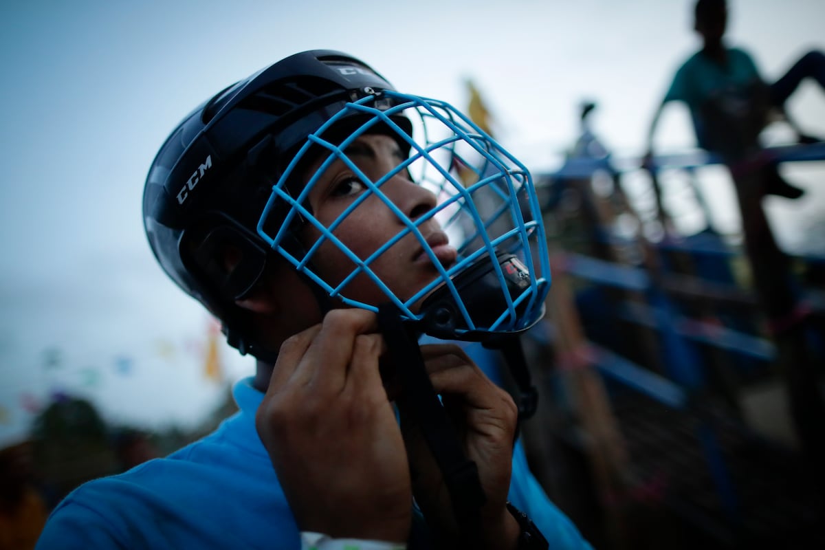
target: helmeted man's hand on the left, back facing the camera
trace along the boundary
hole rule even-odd
[[[413,493],[376,328],[338,309],[285,341],[256,425],[299,529],[403,542]]]

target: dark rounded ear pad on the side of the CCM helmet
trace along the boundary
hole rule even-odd
[[[196,268],[222,300],[243,300],[266,270],[269,253],[243,228],[222,224],[188,239]]]

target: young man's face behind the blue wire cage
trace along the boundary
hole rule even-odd
[[[346,150],[347,157],[370,178],[378,181],[382,176],[403,162],[398,143],[382,134],[366,134],[356,139]],[[312,176],[323,163],[319,158],[309,167]],[[389,200],[409,219],[415,220],[436,206],[436,196],[408,179],[405,171],[398,172],[380,187]],[[309,192],[309,204],[314,216],[324,227],[330,227],[340,214],[365,192],[370,191],[347,164],[336,159],[321,174]],[[389,209],[375,194],[370,194],[346,219],[332,230],[361,260],[377,251],[390,238],[407,229],[402,219]],[[436,219],[428,219],[418,226],[436,258],[445,268],[455,263],[457,252]],[[309,250],[322,233],[307,224],[302,233],[304,246]],[[324,241],[312,257],[314,270],[333,288],[340,284],[356,268],[335,244]],[[370,269],[402,301],[410,298],[426,284],[436,279],[439,272],[424,252],[421,242],[408,233],[370,262]],[[368,275],[356,275],[341,290],[349,299],[378,305],[389,298]]]

